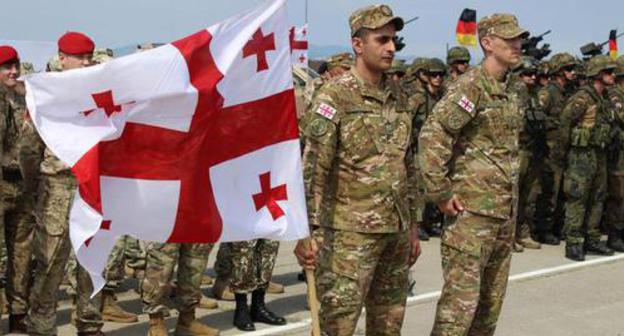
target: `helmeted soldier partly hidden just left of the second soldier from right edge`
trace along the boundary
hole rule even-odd
[[[537,93],[539,109],[546,115],[547,157],[539,179],[541,193],[535,202],[534,223],[540,243],[559,245],[555,234],[555,220],[563,216],[560,189],[565,166],[566,149],[562,146],[560,118],[566,99],[574,90],[577,60],[570,54],[553,55],[549,61],[551,80]]]

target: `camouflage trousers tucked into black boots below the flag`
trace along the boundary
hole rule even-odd
[[[273,275],[279,241],[255,239],[226,244],[233,266],[230,273],[232,292],[245,294],[266,289]]]

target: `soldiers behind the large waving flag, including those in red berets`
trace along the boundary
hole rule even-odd
[[[153,45],[146,44],[138,51],[151,48]],[[58,55],[48,63],[47,71],[68,71],[110,59],[112,53],[96,50],[88,36],[68,32],[59,38]],[[129,276],[139,280],[137,291],[143,313],[149,315],[149,335],[168,334],[165,318],[170,315],[169,308],[179,311],[176,335],[217,335],[218,330],[195,316],[196,309],[218,306],[200,287],[212,282],[205,271],[213,244],[142,242],[123,237],[109,257],[104,289],[90,297],[91,279],[77,264],[69,238],[69,211],[77,182],[70,168],[46,148],[30,120],[26,89],[18,80],[30,72],[32,65],[21,62],[13,47],[0,46],[0,238],[4,238],[0,244],[6,246],[0,272],[9,332],[56,335],[58,291],[64,278],[71,285],[72,323],[78,335],[103,335],[104,321],[137,322],[136,314],[117,303],[116,293]],[[265,305],[267,292],[284,292],[282,285],[270,281],[278,248],[279,242],[264,239],[220,245],[213,293],[236,302],[233,324],[240,330],[255,330],[254,323],[286,323]]]

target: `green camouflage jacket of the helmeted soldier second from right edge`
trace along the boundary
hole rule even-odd
[[[563,148],[593,148],[605,150],[613,140],[615,117],[605,95],[591,85],[581,87],[561,114]]]

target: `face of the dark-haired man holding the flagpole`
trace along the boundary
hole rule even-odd
[[[385,72],[392,67],[396,52],[395,37],[394,25],[387,24],[369,31],[363,38],[353,38],[353,49],[369,69]]]

